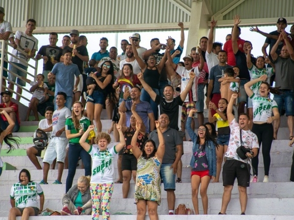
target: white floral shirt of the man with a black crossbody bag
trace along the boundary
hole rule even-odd
[[[246,163],[247,159],[243,160],[237,154],[237,148],[241,146],[241,141],[240,141],[240,126],[235,118],[233,119],[233,121],[231,121],[229,126],[231,129],[231,134],[230,134],[228,150],[224,154],[224,157],[240,160]],[[245,148],[250,148],[250,149],[259,148],[258,139],[255,133],[251,132],[250,130],[248,131],[241,130],[241,131],[242,131],[242,145]]]

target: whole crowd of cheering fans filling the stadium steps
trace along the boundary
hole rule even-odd
[[[199,46],[193,47],[181,62],[185,40],[182,22],[178,23],[181,40],[177,47],[175,40],[168,37],[165,44],[158,38],[151,39],[150,49],[146,49],[140,46],[140,34],[134,33],[128,40],[122,40],[123,53],[118,55],[114,46],[107,50],[108,40],[103,37],[99,41],[100,50],[89,59],[87,38],[79,35],[78,30],[73,29],[69,36],[65,35],[60,47],[56,45],[58,34],[51,32],[49,45],[43,45],[38,51],[38,40],[33,36],[36,21],[29,19],[26,30],[17,31],[14,37],[3,16],[4,9],[0,7],[0,25],[7,27],[0,39],[9,40],[15,48],[23,50],[23,53],[13,50],[19,59],[10,58],[10,71],[3,71],[3,76],[18,86],[23,87],[26,82],[31,84],[33,96],[27,120],[31,110],[37,121],[38,112],[46,116],[39,124],[39,129],[48,132],[49,137],[40,184],[48,184],[49,167],[55,159],[58,176],[53,184],[62,184],[63,170],[69,169],[66,194],[62,197],[62,215],[92,214],[92,219],[97,220],[101,211],[103,219],[109,219],[114,183],[123,183],[123,198],[127,198],[132,178],[136,184],[134,198],[138,220],[145,219],[147,210],[150,219],[158,219],[161,182],[167,191],[169,214],[173,215],[175,183],[182,182],[185,131],[193,142],[190,166],[195,213],[199,214],[199,188],[203,212],[208,213],[206,192],[211,180],[220,181],[224,160],[224,193],[219,214],[226,213],[237,178],[244,215],[246,189],[249,182],[258,181],[261,143],[265,164],[263,182],[269,182],[271,142],[277,139],[280,115],[284,112],[288,119],[290,145],[294,143],[294,28],[292,26],[291,33],[286,33],[285,18],[280,18],[277,30],[269,34],[257,27],[251,28],[267,37],[263,56],[254,58],[251,42],[240,38],[241,20],[236,15],[232,33],[227,35],[224,45],[213,42],[217,25],[213,20],[209,36],[202,37]],[[270,55],[266,52],[268,45]],[[160,53],[161,50],[165,51]],[[35,82],[27,80],[26,73],[21,70],[27,70],[31,57],[43,60],[43,73],[37,75]],[[7,62],[4,63],[7,68]],[[276,88],[271,87],[273,81]],[[8,88],[13,89],[13,86],[9,83]],[[21,94],[22,90],[17,87],[17,91]],[[274,94],[273,99],[270,99],[270,92]],[[11,102],[10,91],[1,92],[1,96],[0,142],[10,138],[18,144],[15,137],[9,135],[19,130],[18,107]],[[20,96],[16,98],[19,100]],[[209,122],[204,124],[205,104],[209,109]],[[100,116],[103,108],[108,119],[112,119],[111,128],[104,129],[113,132],[114,141],[118,142],[112,148],[107,148],[112,145],[110,135],[102,132]],[[9,147],[13,148],[11,144]],[[240,149],[242,152],[245,149],[244,155]],[[37,169],[42,169],[37,159],[41,151],[36,146],[27,149],[27,155]],[[116,182],[113,179],[115,154],[119,154],[119,179]],[[85,176],[72,186],[79,157]],[[250,178],[251,159],[254,176]],[[40,185],[30,180],[27,170],[21,171],[19,180],[11,191],[11,219],[13,216],[37,215],[43,210],[44,195]],[[294,167],[291,181],[294,181]],[[18,192],[20,185],[29,188],[32,184],[35,191],[30,193],[34,198],[37,194],[40,196],[40,209],[32,198],[29,209],[15,202],[18,200],[14,197],[24,199]]]

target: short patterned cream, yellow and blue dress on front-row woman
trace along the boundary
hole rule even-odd
[[[137,177],[135,186],[135,202],[139,199],[161,202],[161,184],[160,171],[161,162],[157,157],[144,159],[142,156],[138,159]]]

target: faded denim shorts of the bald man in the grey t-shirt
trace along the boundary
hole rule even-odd
[[[172,163],[161,164],[160,176],[163,180],[164,190],[175,190],[175,175],[173,169],[170,169]]]

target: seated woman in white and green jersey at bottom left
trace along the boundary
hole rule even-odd
[[[40,197],[40,209],[38,208],[37,195]],[[29,216],[37,216],[43,211],[44,193],[39,183],[30,179],[28,170],[23,169],[19,175],[19,182],[13,184],[10,191],[9,220],[16,220],[21,216],[22,220],[28,220]]]

